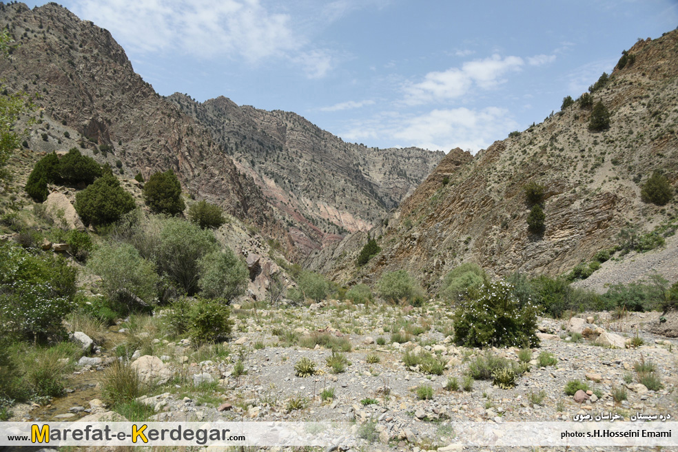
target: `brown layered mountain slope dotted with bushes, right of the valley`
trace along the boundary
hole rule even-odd
[[[355,265],[366,236],[349,236],[309,266],[337,280],[405,268],[431,287],[466,261],[494,276],[554,276],[617,245],[629,223],[649,231],[674,216],[676,196],[659,207],[641,201],[640,190],[655,170],[678,184],[678,31],[628,54],[633,63],[593,92],[611,113],[608,130],[589,130],[592,110],[576,102],[473,158],[451,152],[387,226],[370,232],[382,251],[368,265]],[[542,235],[528,232],[528,182],[546,187]]]

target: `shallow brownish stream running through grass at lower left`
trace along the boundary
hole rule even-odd
[[[104,341],[99,345],[101,353],[93,354],[92,357],[106,358],[115,357],[115,347],[125,340],[125,334],[118,333],[119,325],[109,327],[104,335]],[[85,368],[83,368],[85,369]],[[54,398],[49,404],[37,407],[30,411],[30,418],[39,422],[68,422],[79,420],[90,414],[90,400],[101,398],[101,380],[103,370],[76,369],[63,382],[66,393]],[[83,407],[80,411],[74,407]],[[85,411],[86,410],[86,411]]]

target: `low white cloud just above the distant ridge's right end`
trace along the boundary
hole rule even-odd
[[[378,139],[402,147],[418,146],[445,152],[461,147],[475,153],[517,128],[509,110],[461,107],[432,110],[418,116],[384,114],[372,121],[361,121],[340,135],[348,141]]]

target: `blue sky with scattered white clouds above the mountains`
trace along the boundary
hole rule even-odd
[[[678,0],[61,2],[164,96],[296,112],[367,146],[474,154],[678,25]]]

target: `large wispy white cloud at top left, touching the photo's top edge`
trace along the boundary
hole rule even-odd
[[[283,58],[309,79],[336,66],[336,57],[309,44],[289,14],[271,12],[260,0],[74,0],[72,9],[137,52],[248,63]]]

